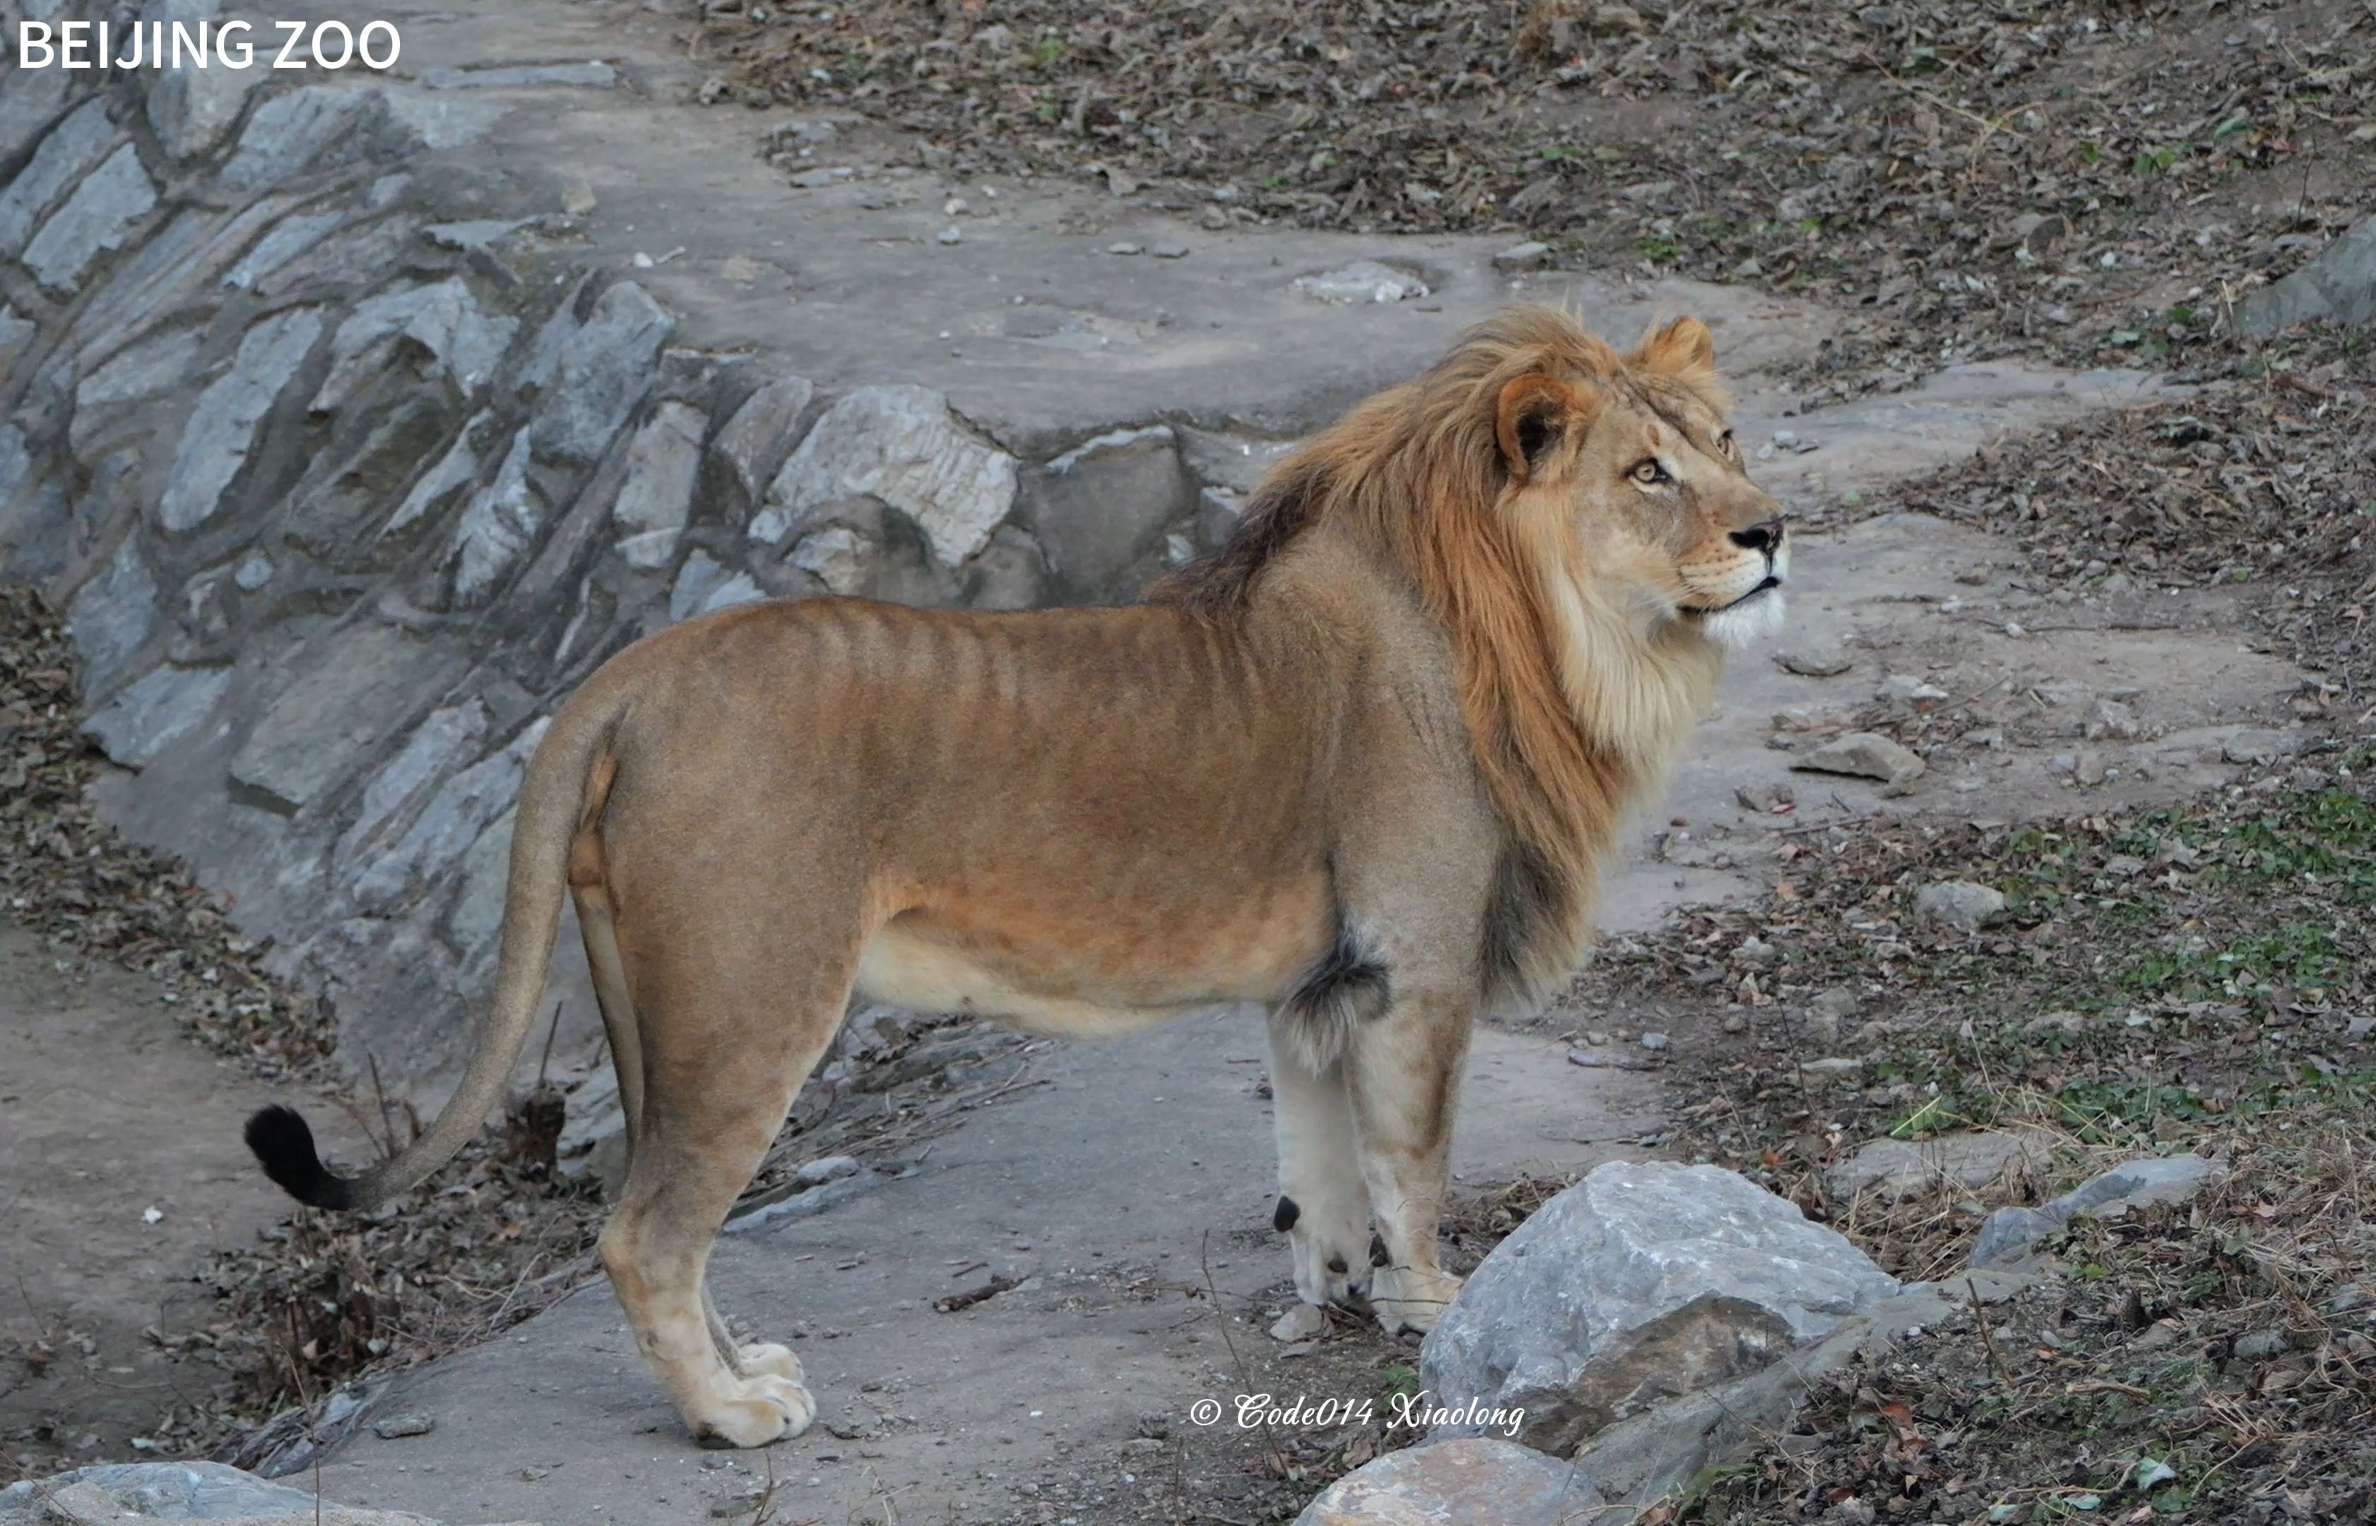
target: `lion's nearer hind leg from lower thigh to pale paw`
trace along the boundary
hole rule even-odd
[[[786,1348],[734,1343],[708,1298],[708,1257],[841,1022],[855,939],[834,958],[798,939],[703,944],[630,972],[644,1108],[601,1260],[644,1364],[694,1436],[756,1448],[805,1431],[817,1402]]]

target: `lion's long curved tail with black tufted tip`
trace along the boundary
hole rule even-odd
[[[592,701],[592,704],[589,704]],[[520,784],[520,808],[511,830],[511,882],[504,891],[504,951],[487,1027],[470,1051],[470,1067],[454,1098],[402,1155],[361,1177],[337,1177],[314,1148],[314,1129],[295,1108],[264,1108],[247,1120],[247,1148],[292,1198],[314,1207],[375,1207],[425,1181],[430,1172],[485,1127],[504,1098],[513,1065],[527,1046],[544,996],[544,977],[561,929],[561,896],[568,889],[570,846],[592,822],[611,789],[601,768],[618,730],[620,699],[604,704],[580,694],[554,718],[537,744]]]

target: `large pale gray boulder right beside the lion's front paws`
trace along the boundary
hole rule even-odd
[[[1732,1172],[1613,1162],[1485,1257],[1421,1345],[1421,1381],[1452,1410],[1523,1410],[1518,1440],[1568,1455],[1658,1398],[1820,1341],[1896,1288],[1846,1238]]]

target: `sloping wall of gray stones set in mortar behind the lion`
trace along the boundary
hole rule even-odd
[[[69,616],[109,813],[416,1091],[468,1053],[542,718],[606,656],[763,597],[1129,597],[1259,459],[1150,425],[1029,461],[908,378],[677,347],[632,271],[573,259],[565,183],[473,152],[468,71],[14,57],[0,578]],[[568,1053],[570,929],[561,960]]]

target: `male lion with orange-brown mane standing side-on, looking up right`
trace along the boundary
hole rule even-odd
[[[437,1122],[354,1179],[287,1108],[247,1143],[316,1207],[421,1184],[504,1096],[565,887],[627,1115],[601,1265],[699,1440],[815,1417],[703,1284],[853,991],[1038,1034],[1264,1005],[1295,1288],[1426,1331],[1471,1022],[1575,970],[1625,808],[1780,618],[1784,521],[1727,409],[1696,319],[1620,354],[1509,309],[1140,604],[820,597],[634,642],[527,768]]]

